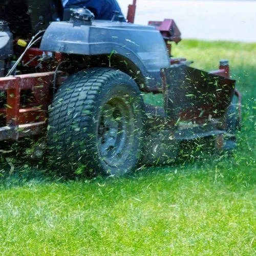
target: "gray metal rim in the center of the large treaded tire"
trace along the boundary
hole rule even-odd
[[[112,98],[102,108],[98,126],[101,159],[112,167],[124,163],[133,146],[132,106],[121,97]]]

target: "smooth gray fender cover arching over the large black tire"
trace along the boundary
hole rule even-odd
[[[40,48],[68,54],[117,54],[129,58],[148,77],[146,89],[161,83],[160,69],[168,68],[165,42],[154,27],[106,20],[94,20],[92,25],[53,22],[47,28]]]

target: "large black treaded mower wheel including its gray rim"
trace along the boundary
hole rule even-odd
[[[50,161],[69,173],[123,175],[136,167],[143,137],[143,101],[121,71],[93,68],[72,75],[49,114]]]

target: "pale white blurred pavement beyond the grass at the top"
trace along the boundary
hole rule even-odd
[[[124,15],[132,0],[119,0]],[[256,1],[137,0],[135,23],[172,18],[182,38],[256,42]]]

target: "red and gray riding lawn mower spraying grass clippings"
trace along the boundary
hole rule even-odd
[[[0,8],[1,141],[41,138],[56,168],[108,175],[168,164],[184,141],[236,147],[241,96],[229,63],[205,72],[174,58],[181,33],[173,19],[133,24],[136,0],[126,22],[115,10],[112,20],[95,20],[60,1]]]

